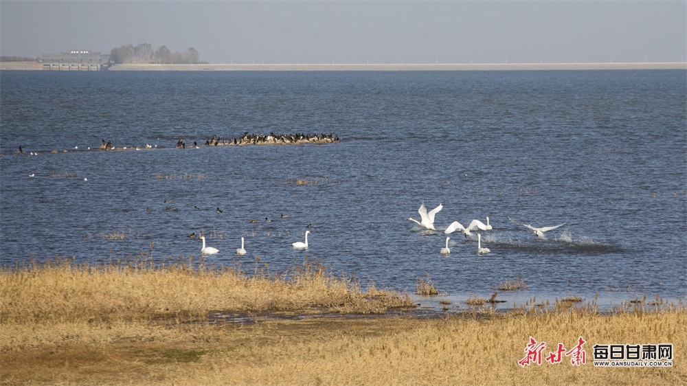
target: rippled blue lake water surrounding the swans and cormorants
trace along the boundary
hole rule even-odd
[[[409,293],[429,274],[456,304],[515,277],[509,306],[687,294],[686,71],[2,71],[0,91],[3,266],[197,259],[203,231],[211,264],[308,256]],[[341,141],[173,148],[246,131]],[[143,149],[87,150],[102,139]],[[407,220],[422,203],[436,231]],[[491,253],[455,232],[440,255],[486,216]],[[565,225],[537,240],[508,216]]]

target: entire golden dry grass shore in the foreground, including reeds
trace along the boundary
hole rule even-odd
[[[144,258],[1,269],[0,384],[687,383],[682,305],[608,314],[594,304],[556,304],[508,313],[464,308],[434,319],[370,316],[412,306],[407,295],[363,291],[308,260],[286,273],[270,273],[259,259],[245,269]],[[235,322],[240,317],[245,321]],[[521,366],[529,337],[546,343],[542,356],[583,337],[587,363],[542,357],[541,365]],[[594,367],[596,343],[673,343],[673,367]]]

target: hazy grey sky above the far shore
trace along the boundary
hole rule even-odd
[[[687,60],[687,1],[0,0],[0,55],[193,47],[207,63]]]

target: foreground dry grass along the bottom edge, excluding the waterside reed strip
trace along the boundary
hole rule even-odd
[[[508,313],[412,317],[272,319],[244,325],[142,321],[3,323],[0,339],[35,345],[0,350],[12,385],[681,385],[687,380],[687,312],[594,305]],[[529,337],[587,343],[587,363],[521,367]],[[16,339],[16,338],[14,338]],[[594,344],[673,343],[666,368],[598,368]],[[3,343],[6,346],[6,343]],[[507,381],[505,381],[507,380]]]

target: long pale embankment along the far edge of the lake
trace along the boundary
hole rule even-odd
[[[499,71],[499,70],[687,69],[687,62],[648,63],[453,63],[453,64],[202,64],[112,65],[109,71]],[[41,63],[3,62],[0,70],[43,70]]]

